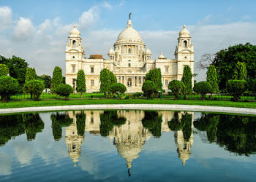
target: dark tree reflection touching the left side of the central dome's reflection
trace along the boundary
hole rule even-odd
[[[108,136],[114,125],[121,126],[126,120],[124,117],[118,116],[117,111],[104,111],[103,114],[100,114],[100,135]]]

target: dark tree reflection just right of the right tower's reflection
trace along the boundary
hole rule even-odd
[[[210,143],[213,143],[216,140],[218,124],[218,114],[202,114],[201,118],[194,122],[194,125],[198,130],[206,131]]]

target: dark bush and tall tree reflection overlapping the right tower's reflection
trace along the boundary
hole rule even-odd
[[[174,112],[173,119],[168,122],[170,130],[178,131],[182,130],[183,137],[185,141],[189,141],[192,134],[192,114],[182,114],[181,119],[179,119],[178,112]]]

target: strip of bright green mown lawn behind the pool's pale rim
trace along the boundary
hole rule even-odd
[[[256,108],[256,102],[232,102],[222,100],[170,100],[170,99],[70,99],[70,100],[15,100],[7,103],[0,103],[0,108],[22,108],[38,106],[68,106],[68,105],[87,105],[87,104],[183,104],[198,106],[225,106],[236,108]],[[136,106],[135,106],[136,108]],[[154,108],[152,108],[154,109]]]

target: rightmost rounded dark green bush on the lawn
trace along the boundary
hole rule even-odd
[[[240,96],[244,93],[246,89],[245,80],[230,79],[227,81],[226,89],[230,95],[233,95],[233,100],[238,101]]]

